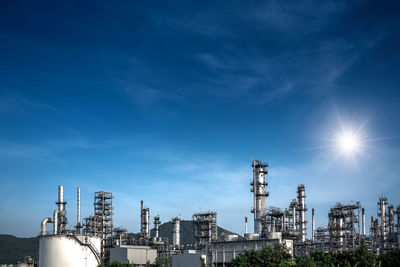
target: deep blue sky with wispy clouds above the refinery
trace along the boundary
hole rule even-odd
[[[250,158],[267,205],[300,183],[325,225],[336,202],[400,204],[396,1],[2,1],[0,232],[34,236],[65,186],[70,225],[93,192],[139,231],[214,210],[243,233]],[[339,119],[340,118],[340,119]],[[354,159],[332,147],[362,127]],[[367,220],[369,222],[369,220]],[[309,225],[311,228],[311,226]],[[252,220],[250,220],[252,229]]]

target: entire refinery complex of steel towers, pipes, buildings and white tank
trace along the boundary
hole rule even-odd
[[[217,213],[195,213],[192,216],[194,244],[181,243],[181,218],[172,222],[172,240],[160,235],[161,218],[153,217],[150,208],[141,201],[140,234],[131,236],[125,228],[113,224],[113,194],[95,192],[93,215],[81,218],[80,194],[77,190],[77,218],[73,228],[67,227],[67,202],[64,187],[58,188],[57,208],[52,217],[44,218],[39,236],[40,267],[95,267],[114,260],[145,266],[156,258],[171,257],[172,266],[226,266],[233,258],[249,249],[265,245],[284,244],[293,256],[315,250],[343,251],[366,244],[376,254],[400,248],[400,205],[389,204],[381,196],[377,202],[377,217],[371,217],[366,229],[365,208],[355,204],[336,203],[328,215],[325,227],[315,228],[314,209],[306,205],[306,187],[297,186],[297,195],[286,208],[268,206],[268,164],[252,160],[251,192],[254,206],[254,230],[249,232],[244,217],[243,236],[219,235]],[[296,192],[293,190],[294,193]],[[307,229],[307,212],[311,211],[311,229]],[[52,226],[49,227],[49,224]],[[310,233],[308,235],[308,233]]]

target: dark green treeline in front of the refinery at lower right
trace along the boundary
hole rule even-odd
[[[379,256],[369,251],[366,245],[349,251],[315,251],[293,259],[287,249],[279,244],[261,250],[248,250],[236,257],[230,267],[399,267],[400,250]]]

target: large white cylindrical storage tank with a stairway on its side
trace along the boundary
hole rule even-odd
[[[100,249],[101,238],[97,236],[41,236],[39,267],[97,267]]]

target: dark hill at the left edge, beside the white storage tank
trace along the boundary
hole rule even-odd
[[[19,238],[0,235],[0,264],[15,264],[27,256],[39,257],[39,240],[36,237]]]

